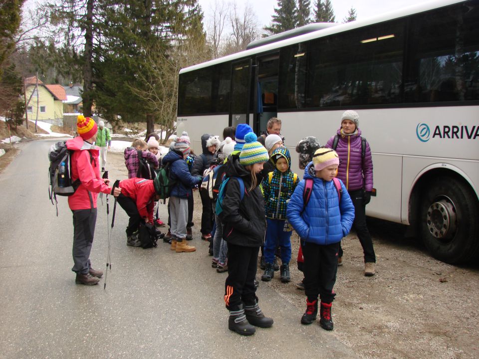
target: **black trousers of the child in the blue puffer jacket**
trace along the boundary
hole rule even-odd
[[[320,245],[301,241],[304,264],[304,293],[309,302],[318,299],[331,303],[336,294],[333,291],[338,271],[338,243]]]

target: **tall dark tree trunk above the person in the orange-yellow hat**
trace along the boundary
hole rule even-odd
[[[85,18],[85,62],[83,64],[83,115],[91,117],[91,108],[93,107],[92,94],[93,91],[93,1],[87,0],[86,18]]]

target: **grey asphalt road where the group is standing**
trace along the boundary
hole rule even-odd
[[[302,326],[297,308],[265,285],[257,294],[273,327],[251,337],[229,331],[226,276],[212,275],[206,251],[127,247],[120,206],[106,289],[104,278],[76,285],[72,214],[60,197],[57,217],[47,195],[47,150],[56,141],[22,145],[0,175],[0,358],[357,358],[318,324]],[[99,200],[90,258],[102,270],[107,227]]]

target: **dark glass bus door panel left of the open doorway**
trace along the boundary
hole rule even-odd
[[[230,126],[250,123],[251,112],[251,59],[232,63]],[[251,121],[252,122],[252,121]]]

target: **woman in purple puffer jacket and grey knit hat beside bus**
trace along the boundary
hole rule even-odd
[[[366,204],[373,190],[373,161],[368,142],[361,137],[359,115],[347,110],[341,116],[341,128],[325,147],[335,150],[340,159],[338,178],[346,185],[354,204],[355,229],[364,252],[364,275],[375,274],[376,255],[366,224]],[[339,247],[338,265],[342,264],[343,250]]]

